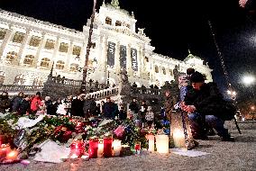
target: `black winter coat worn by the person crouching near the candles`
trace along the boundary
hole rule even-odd
[[[205,83],[200,90],[191,89],[187,92],[184,102],[195,105],[202,115],[224,116],[224,97],[215,83]]]

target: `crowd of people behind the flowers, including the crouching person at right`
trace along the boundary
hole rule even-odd
[[[215,83],[205,83],[206,77],[195,71],[187,69],[187,74],[178,79],[178,98],[165,91],[166,101],[162,111],[166,113],[161,119],[171,120],[170,112],[182,110],[187,112],[192,135],[194,139],[208,139],[209,132],[215,132],[225,141],[233,141],[233,137],[224,128],[224,97]],[[129,104],[128,110],[125,106],[114,103],[108,96],[105,101],[96,103],[96,99],[90,94],[80,93],[77,96],[69,95],[65,99],[52,102],[50,96],[44,99],[41,93],[28,96],[20,92],[12,99],[7,92],[0,95],[0,112],[16,112],[17,114],[50,114],[80,116],[85,119],[100,116],[106,119],[134,121],[138,126],[147,125],[152,128],[155,125],[156,115],[146,101],[138,103],[136,98]]]

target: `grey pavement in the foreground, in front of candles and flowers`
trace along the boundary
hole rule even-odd
[[[60,164],[42,163],[31,160],[23,164],[2,165],[1,171],[80,171],[80,170],[215,170],[215,171],[249,171],[256,170],[256,122],[239,123],[242,134],[238,133],[233,121],[226,124],[235,142],[221,141],[218,136],[209,140],[198,140],[195,149],[210,153],[201,157],[185,157],[173,153],[160,155],[144,153],[140,156],[96,158],[88,161],[63,162]]]

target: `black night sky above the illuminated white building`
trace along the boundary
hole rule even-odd
[[[224,58],[231,84],[241,89],[242,76],[256,76],[256,0],[242,8],[238,0],[139,1],[119,0],[121,8],[133,11],[137,28],[151,38],[155,52],[183,60],[187,51],[204,59],[214,69],[214,81],[224,90],[224,71],[209,29]],[[97,0],[97,7],[103,0]],[[105,0],[110,3],[111,0]],[[82,30],[92,13],[93,0],[1,0],[0,8],[42,21]]]

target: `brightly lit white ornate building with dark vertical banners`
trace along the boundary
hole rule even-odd
[[[116,1],[100,6],[93,25],[87,80],[109,80],[117,85],[123,67],[131,84],[161,86],[174,79],[177,66],[179,72],[194,67],[212,81],[212,69],[191,53],[183,61],[155,53],[143,29],[136,32],[136,22],[133,13],[121,9]],[[0,85],[43,85],[51,67],[53,76],[81,80],[90,23],[88,19],[83,31],[76,31],[0,10]]]

